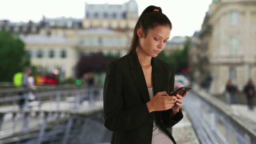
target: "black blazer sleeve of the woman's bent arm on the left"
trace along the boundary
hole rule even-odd
[[[153,126],[146,104],[123,110],[122,71],[112,62],[108,65],[104,82],[104,126],[110,131],[123,131]]]

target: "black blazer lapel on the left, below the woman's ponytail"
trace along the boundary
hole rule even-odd
[[[130,74],[145,102],[150,101],[145,76],[135,50],[128,54]]]

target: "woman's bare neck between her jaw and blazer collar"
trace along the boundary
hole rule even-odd
[[[151,66],[151,56],[148,56],[139,47],[136,48],[136,53],[142,67]]]

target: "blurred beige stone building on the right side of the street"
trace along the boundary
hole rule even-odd
[[[202,29],[192,37],[193,80],[220,94],[228,79],[241,90],[256,81],[256,1],[213,0]],[[210,78],[208,78],[210,77]]]

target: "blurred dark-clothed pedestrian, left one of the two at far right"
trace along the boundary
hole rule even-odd
[[[235,98],[236,92],[237,92],[237,86],[235,86],[232,83],[232,80],[229,79],[226,84],[226,90],[225,90],[226,102],[228,104],[236,104],[236,98]]]

